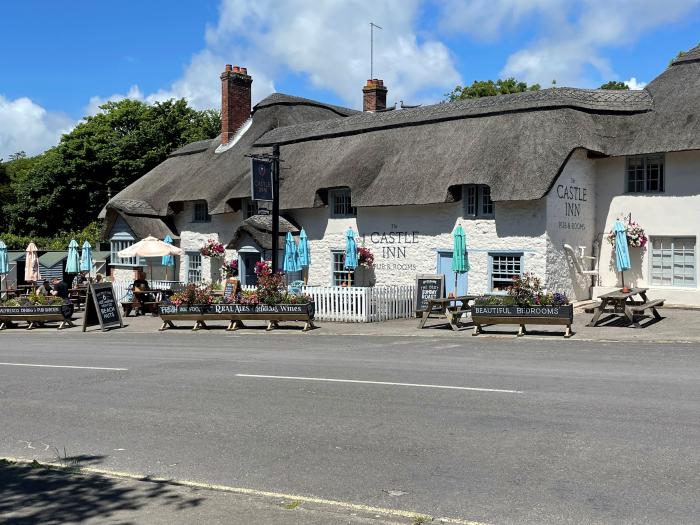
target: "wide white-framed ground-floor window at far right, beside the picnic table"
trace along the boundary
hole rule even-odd
[[[695,237],[651,239],[651,284],[694,288]]]

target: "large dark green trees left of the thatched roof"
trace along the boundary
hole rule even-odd
[[[49,236],[94,221],[115,195],[185,144],[214,138],[219,114],[196,111],[184,99],[152,106],[108,102],[58,146],[32,158],[18,154],[0,172],[3,231]],[[4,181],[4,185],[3,185]],[[7,192],[9,181],[10,194]]]

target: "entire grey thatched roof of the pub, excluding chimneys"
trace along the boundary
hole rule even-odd
[[[439,203],[462,184],[495,201],[543,197],[571,153],[632,155],[700,149],[700,46],[640,91],[545,89],[432,106],[359,113],[275,94],[239,142],[190,144],[119,193],[108,207],[161,216],[206,200],[212,214],[250,195],[250,159],[280,144],[281,208],[323,203],[349,187],[354,206]]]

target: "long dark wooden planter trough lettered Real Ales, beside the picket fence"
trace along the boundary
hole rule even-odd
[[[243,321],[268,321],[271,330],[280,321],[304,321],[304,331],[313,328],[315,304],[204,304],[176,306],[160,304],[158,314],[163,320],[160,330],[174,328],[173,321],[194,321],[193,330],[206,328],[207,321],[229,321],[227,330],[233,331],[243,326]]]

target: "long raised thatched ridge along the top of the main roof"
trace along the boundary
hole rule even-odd
[[[648,111],[651,107],[652,99],[645,91],[549,88],[444,102],[401,111],[360,113],[322,123],[310,122],[277,128],[264,135],[256,144],[291,144],[302,140],[520,111],[573,108],[598,113],[638,113]]]

